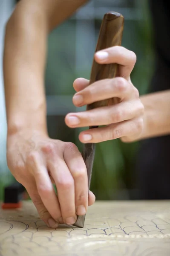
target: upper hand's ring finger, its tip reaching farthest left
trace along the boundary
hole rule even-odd
[[[79,113],[69,113],[66,116],[66,125],[71,128],[109,125],[133,119],[141,116],[143,113],[144,106],[140,100],[125,101],[108,107],[95,108]],[[76,119],[77,122],[74,124],[73,121]]]

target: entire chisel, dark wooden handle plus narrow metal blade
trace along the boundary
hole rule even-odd
[[[121,39],[124,28],[124,17],[117,12],[109,12],[104,15],[103,22],[101,24],[101,30],[99,33],[98,44],[96,51],[106,49],[113,46],[120,46]],[[102,79],[111,79],[116,76],[117,73],[117,64],[98,64],[93,60],[92,71],[90,76],[89,84],[94,83],[95,81]],[[100,102],[94,102],[87,106],[87,110],[104,107],[110,104],[114,104],[115,99],[107,99]],[[90,129],[96,128],[89,127]],[[92,176],[92,166],[95,157],[95,144],[87,143],[84,145],[84,150],[82,153],[84,162],[86,164],[87,175],[88,175],[88,189],[90,187],[91,176]],[[84,227],[85,215],[78,216],[77,221],[73,226]]]

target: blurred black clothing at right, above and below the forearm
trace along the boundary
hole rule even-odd
[[[149,0],[153,21],[155,73],[150,92],[170,89],[170,3]],[[136,173],[141,199],[170,199],[170,135],[141,142]]]

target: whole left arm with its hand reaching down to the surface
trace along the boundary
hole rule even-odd
[[[7,163],[49,227],[74,224],[95,200],[73,143],[47,135],[44,67],[48,33],[86,0],[20,0],[6,26]],[[52,182],[58,191],[56,197]]]

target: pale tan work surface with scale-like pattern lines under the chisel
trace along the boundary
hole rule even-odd
[[[0,256],[170,256],[170,201],[96,202],[84,228],[46,227],[31,202],[0,210]]]

